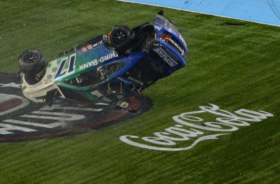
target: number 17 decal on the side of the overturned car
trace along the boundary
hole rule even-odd
[[[68,62],[68,68],[64,69],[69,58],[70,58],[70,60]],[[75,72],[75,62],[76,62],[76,53],[70,55],[69,57],[62,58],[59,66],[57,67],[57,70],[55,72],[54,81],[59,80],[67,75],[70,75],[71,73],[74,73]]]

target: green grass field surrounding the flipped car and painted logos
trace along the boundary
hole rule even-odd
[[[161,9],[181,30],[189,55],[185,68],[143,91],[153,108],[85,134],[0,143],[0,183],[279,183],[280,28]],[[51,60],[116,24],[149,21],[159,10],[110,0],[1,1],[0,72],[17,72],[17,57],[29,48]],[[173,116],[208,103],[274,116],[186,151],[143,149],[119,140],[153,136],[176,125]]]

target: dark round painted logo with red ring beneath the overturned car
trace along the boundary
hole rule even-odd
[[[141,94],[129,101],[129,109],[138,113],[106,104],[85,107],[57,102],[48,107],[24,98],[15,74],[0,73],[0,142],[79,134],[134,118],[153,106],[152,100]]]

